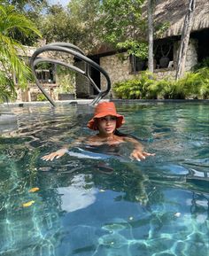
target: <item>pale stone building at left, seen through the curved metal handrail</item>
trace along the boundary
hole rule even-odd
[[[44,45],[44,43],[43,43]],[[40,45],[40,46],[43,46]],[[19,50],[19,57],[25,60],[25,63],[29,65],[30,58],[37,48],[25,46],[24,50]],[[57,51],[45,51],[39,58],[52,58],[64,61],[66,63],[74,64],[73,57],[67,55],[66,53],[60,53]],[[62,68],[62,67],[61,67]],[[66,91],[75,93],[75,82],[74,74],[69,73],[69,70],[62,70],[60,66],[55,64],[44,62],[41,66],[35,69],[36,77],[43,85],[43,88],[48,92],[50,97],[54,100],[62,99],[59,98],[61,94],[66,93]],[[15,78],[14,78],[15,79]],[[18,81],[16,81],[18,84]],[[45,99],[43,93],[37,87],[35,82],[31,82],[27,89],[18,89],[17,101],[42,101]]]

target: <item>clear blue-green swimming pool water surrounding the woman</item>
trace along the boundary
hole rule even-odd
[[[91,107],[12,109],[17,120],[0,129],[0,255],[207,255],[208,104],[116,105],[120,131],[155,157],[130,160],[122,144],[43,162],[92,134]]]

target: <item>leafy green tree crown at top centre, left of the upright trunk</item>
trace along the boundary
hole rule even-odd
[[[98,35],[105,43],[142,59],[147,57],[144,43],[146,20],[142,16],[143,0],[104,0],[98,19]]]

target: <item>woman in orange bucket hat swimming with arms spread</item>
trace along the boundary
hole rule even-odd
[[[94,117],[89,120],[88,128],[98,131],[97,135],[85,138],[85,143],[92,146],[102,144],[117,145],[121,143],[131,143],[134,145],[134,150],[130,154],[131,159],[138,161],[145,159],[147,156],[154,156],[143,151],[143,145],[135,138],[121,134],[117,128],[125,122],[124,117],[117,113],[114,103],[103,102],[96,106]],[[81,140],[80,140],[81,143]],[[53,160],[62,157],[68,150],[66,148],[52,152],[43,156],[43,160]]]

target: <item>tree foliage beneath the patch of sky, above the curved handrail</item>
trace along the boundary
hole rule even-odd
[[[47,43],[70,42],[81,49],[96,45],[96,22],[99,0],[72,0],[67,8],[54,4],[43,16],[40,29]]]

